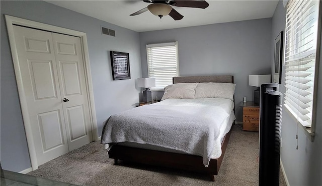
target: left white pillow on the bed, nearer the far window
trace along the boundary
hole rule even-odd
[[[197,83],[177,83],[165,87],[161,100],[169,98],[194,99]]]

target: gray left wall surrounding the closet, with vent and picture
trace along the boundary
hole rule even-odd
[[[87,33],[98,132],[111,114],[132,108],[139,100],[141,77],[139,34],[43,1],[1,1],[1,164],[21,171],[31,167],[17,84],[4,14]],[[116,37],[101,35],[101,26],[116,31]],[[130,80],[112,80],[109,51],[130,56]]]

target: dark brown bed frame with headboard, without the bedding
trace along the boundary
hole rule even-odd
[[[202,83],[202,82],[219,82],[233,83],[233,76],[189,76],[174,77],[173,83]],[[215,181],[214,175],[218,175],[219,167],[223,159],[227,144],[229,141],[231,129],[224,136],[221,143],[221,156],[218,159],[211,159],[209,166],[203,164],[203,157],[198,155],[189,155],[173,152],[164,152],[156,150],[148,150],[142,148],[127,147],[122,145],[113,145],[108,154],[114,159],[114,163],[118,163],[118,159],[134,161],[149,165],[158,165],[171,168],[179,168],[184,170],[192,170],[207,173],[212,181]]]

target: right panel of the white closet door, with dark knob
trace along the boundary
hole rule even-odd
[[[52,36],[67,140],[69,150],[73,150],[92,141],[81,39],[55,33]]]

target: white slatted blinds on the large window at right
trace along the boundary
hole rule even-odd
[[[319,1],[289,1],[286,12],[284,105],[307,127],[312,124],[318,7]]]

